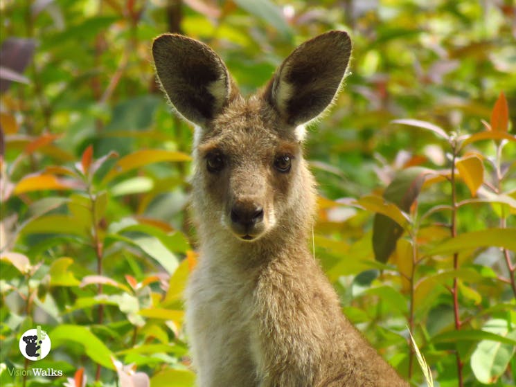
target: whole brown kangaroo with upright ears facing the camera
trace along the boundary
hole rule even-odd
[[[161,88],[195,125],[200,256],[185,297],[200,387],[408,386],[341,313],[308,249],[316,191],[303,125],[337,96],[350,51],[347,33],[319,35],[246,99],[205,44],[154,39]]]

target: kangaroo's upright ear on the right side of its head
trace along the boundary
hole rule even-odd
[[[344,31],[330,31],[301,44],[278,68],[265,98],[290,125],[301,125],[321,114],[346,73],[351,40]]]

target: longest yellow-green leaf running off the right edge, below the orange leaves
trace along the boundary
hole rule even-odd
[[[438,244],[425,255],[452,254],[488,246],[516,251],[516,228],[488,228],[487,230],[463,233]]]

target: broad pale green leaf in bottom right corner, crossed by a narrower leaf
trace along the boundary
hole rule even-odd
[[[516,330],[508,332],[508,321],[492,319],[483,326],[484,331],[516,339]],[[504,374],[516,350],[515,345],[483,340],[471,356],[471,368],[477,380],[492,384]]]

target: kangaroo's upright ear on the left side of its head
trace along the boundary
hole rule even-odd
[[[161,88],[181,116],[204,126],[226,106],[231,78],[224,62],[206,44],[163,34],[154,39],[152,56]]]

